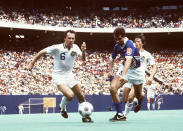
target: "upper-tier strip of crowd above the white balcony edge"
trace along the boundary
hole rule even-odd
[[[90,12],[77,15],[65,10],[28,10],[0,8],[0,21],[30,25],[77,28],[179,28],[183,27],[182,11]]]

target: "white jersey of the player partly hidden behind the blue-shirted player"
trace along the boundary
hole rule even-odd
[[[147,65],[154,65],[155,60],[151,53],[146,50],[140,51],[141,66],[144,68],[144,73],[147,70]]]

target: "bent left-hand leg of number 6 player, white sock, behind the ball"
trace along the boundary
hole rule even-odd
[[[57,85],[57,88],[64,95],[62,97],[61,103],[59,105],[60,111],[61,111],[61,115],[64,118],[68,118],[68,115],[67,115],[67,112],[66,112],[66,105],[67,105],[67,103],[69,103],[69,101],[71,101],[74,98],[74,93],[71,90],[71,88],[69,88],[66,84]]]

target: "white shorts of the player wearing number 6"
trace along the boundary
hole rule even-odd
[[[69,88],[74,87],[76,84],[79,84],[79,82],[74,78],[74,74],[56,74],[53,73],[53,82],[58,86],[60,84],[66,84]]]

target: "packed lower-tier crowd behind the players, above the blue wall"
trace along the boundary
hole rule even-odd
[[[35,56],[34,51],[0,50],[0,95],[51,95],[60,94],[51,81],[53,69],[52,56],[42,57],[32,71],[26,70],[28,63]],[[156,93],[183,94],[183,51],[156,51],[153,56],[157,62],[158,71],[153,81]],[[110,51],[87,51],[85,62],[77,60],[74,66],[76,79],[81,84],[85,94],[109,94],[107,77]],[[120,65],[116,60],[115,70]]]

